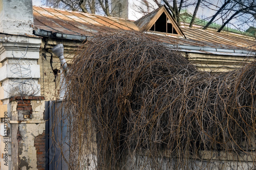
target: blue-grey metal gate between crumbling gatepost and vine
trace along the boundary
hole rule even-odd
[[[46,170],[69,169],[70,125],[61,104],[62,100],[45,102]]]

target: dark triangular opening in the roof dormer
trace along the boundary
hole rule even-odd
[[[178,34],[178,32],[175,30],[175,28],[173,27],[172,23],[170,22],[168,17],[165,15],[165,13],[162,13],[162,15],[157,19],[157,21],[151,27],[150,31]]]

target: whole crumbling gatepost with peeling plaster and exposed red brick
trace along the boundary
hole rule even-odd
[[[12,165],[11,169],[38,169],[37,154],[39,153],[36,137],[45,135],[45,101],[35,96],[16,97],[11,99],[11,132],[12,132]],[[30,106],[24,106],[25,104]],[[32,118],[25,118],[28,113]],[[45,143],[39,140],[41,148]],[[36,146],[35,146],[36,145]],[[37,147],[37,148],[36,148]],[[45,157],[42,158],[44,160]],[[44,169],[40,167],[39,169]]]

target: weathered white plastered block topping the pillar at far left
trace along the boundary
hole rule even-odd
[[[33,33],[32,0],[0,0],[0,33]]]

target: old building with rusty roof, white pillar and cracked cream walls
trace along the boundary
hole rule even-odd
[[[61,65],[51,51],[59,43],[70,60],[91,37],[137,31],[178,45],[184,57],[207,71],[232,70],[255,59],[254,38],[179,27],[164,6],[136,21],[33,7],[31,0],[0,1],[0,12],[1,169],[47,168],[45,101],[59,99]]]

